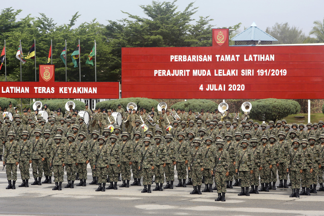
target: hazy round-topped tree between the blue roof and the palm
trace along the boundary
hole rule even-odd
[[[275,23],[274,26],[267,27],[266,32],[278,41],[273,41],[272,44],[294,44],[303,43],[306,36],[302,30],[297,27],[290,27],[288,22]]]

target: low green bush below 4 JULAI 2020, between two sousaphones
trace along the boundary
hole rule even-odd
[[[170,108],[168,107],[168,109],[172,108],[185,110],[186,112],[188,112],[189,109],[192,109],[192,112],[200,112],[201,109],[204,109],[205,112],[207,110],[212,112],[218,108],[218,104],[206,99],[191,99],[188,101],[175,103]]]

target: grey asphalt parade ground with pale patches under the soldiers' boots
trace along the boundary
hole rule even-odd
[[[87,167],[86,187],[64,188],[67,184],[64,175],[62,191],[53,191],[53,177],[52,184],[31,186],[33,178],[31,168],[29,170],[29,187],[18,187],[22,180],[19,169],[17,170],[15,190],[5,189],[8,185],[6,170],[0,170],[0,215],[324,215],[324,192],[289,198],[292,192],[290,188],[277,188],[247,197],[237,196],[241,188],[234,187],[227,189],[226,202],[215,202],[216,191],[191,195],[191,185],[175,187],[178,184],[176,170],[174,189],[148,194],[141,193],[143,186],[120,188],[122,182],[118,182],[118,190],[96,192],[98,186],[89,185],[92,180],[90,165]],[[43,177],[42,181],[44,179]],[[76,184],[78,182],[75,181]],[[133,178],[130,183],[132,182]],[[278,184],[279,181],[276,186]],[[166,183],[163,186],[165,185]],[[201,189],[204,187],[203,185]],[[155,183],[151,189],[154,188]]]

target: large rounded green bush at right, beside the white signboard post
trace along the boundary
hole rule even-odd
[[[299,103],[293,100],[268,98],[253,101],[251,104],[250,118],[259,121],[276,122],[277,119],[281,120],[300,111]]]

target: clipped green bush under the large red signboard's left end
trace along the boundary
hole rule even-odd
[[[149,98],[121,98],[117,100],[98,102],[96,104],[96,108],[100,107],[101,110],[102,109],[116,110],[117,105],[121,104],[121,107],[124,108],[124,110],[126,111],[126,106],[129,102],[134,102],[137,105],[137,110],[143,107],[148,112],[151,111],[152,106],[155,108],[155,111],[157,112],[157,104],[159,103],[156,100],[149,99]]]

